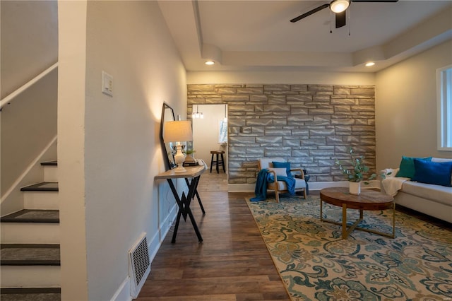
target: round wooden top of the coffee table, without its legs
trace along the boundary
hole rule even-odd
[[[392,208],[394,198],[388,194],[371,189],[362,189],[361,194],[350,194],[347,187],[324,188],[320,191],[320,199],[335,206],[362,210],[383,210]]]

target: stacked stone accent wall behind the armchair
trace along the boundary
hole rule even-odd
[[[309,182],[344,181],[335,159],[375,169],[374,85],[188,85],[193,105],[227,104],[229,184],[256,182],[257,160],[283,157]]]

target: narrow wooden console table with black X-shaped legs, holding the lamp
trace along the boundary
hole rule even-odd
[[[174,172],[174,170],[167,170],[166,172],[162,172],[154,177],[154,179],[166,179],[168,181],[169,187],[171,188],[172,194],[174,195],[174,199],[176,199],[177,206],[179,206],[176,225],[171,240],[172,243],[176,242],[177,229],[179,228],[181,216],[184,217],[184,220],[186,220],[186,217],[189,216],[191,225],[193,225],[196,236],[198,236],[198,241],[203,242],[201,232],[199,232],[198,225],[196,225],[196,220],[193,216],[193,213],[191,213],[190,203],[191,200],[196,196],[198,198],[198,202],[201,206],[203,214],[206,214],[206,211],[204,211],[203,208],[203,203],[201,203],[201,198],[199,197],[198,191],[196,190],[198,187],[199,179],[206,168],[206,165],[186,166],[186,172]],[[182,192],[182,196],[179,196],[177,189],[174,186],[173,179],[185,179],[185,182],[189,187],[189,193],[185,195],[185,192]],[[191,179],[191,181],[189,181],[189,179]]]

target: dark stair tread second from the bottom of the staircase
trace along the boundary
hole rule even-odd
[[[59,266],[59,244],[1,244],[2,266]]]

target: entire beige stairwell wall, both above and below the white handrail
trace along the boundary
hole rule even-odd
[[[3,99],[57,61],[58,18],[57,1],[1,1],[0,8]],[[57,135],[57,78],[58,71],[52,71],[1,111],[2,215],[23,208],[14,183]],[[42,172],[21,184],[39,180]]]

